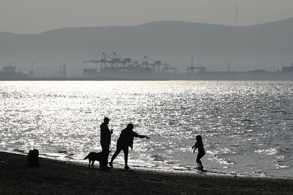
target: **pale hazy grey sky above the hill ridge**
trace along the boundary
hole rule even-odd
[[[293,0],[0,0],[0,31],[129,26],[178,20],[238,26],[293,17]]]

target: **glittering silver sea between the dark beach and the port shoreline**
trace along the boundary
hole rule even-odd
[[[0,81],[0,150],[86,166],[107,116],[113,153],[130,122],[151,137],[135,138],[130,167],[193,169],[202,135],[208,171],[292,177],[292,107],[293,82]],[[114,162],[124,165],[123,152]]]

